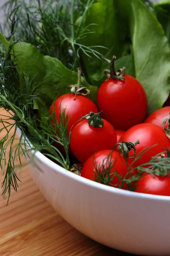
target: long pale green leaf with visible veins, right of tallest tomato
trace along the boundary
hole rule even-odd
[[[162,107],[169,94],[168,41],[161,24],[141,0],[114,2],[120,22],[123,19],[129,25],[135,76],[146,91],[150,114]]]

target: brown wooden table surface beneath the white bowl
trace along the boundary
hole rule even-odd
[[[22,183],[12,191],[8,206],[7,198],[0,197],[0,256],[131,255],[98,244],[71,227],[39,192],[28,167],[19,177]]]

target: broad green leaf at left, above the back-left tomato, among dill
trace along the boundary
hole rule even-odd
[[[4,39],[2,34],[0,34],[0,39],[7,47],[9,43],[7,44],[8,41]],[[17,43],[14,45],[13,53],[18,58],[15,64],[17,64],[17,71],[20,74],[21,89],[25,86],[24,73],[30,76],[31,79],[35,76],[34,82],[42,82],[49,79],[36,89],[36,93],[39,94],[40,99],[47,108],[50,107],[59,94],[70,92],[67,89],[69,84],[77,84],[78,74],[76,72],[68,70],[57,58],[42,55],[40,50],[31,44]],[[91,90],[91,99],[95,101],[97,87],[88,84],[83,77],[81,84]],[[35,102],[34,106],[37,108]]]

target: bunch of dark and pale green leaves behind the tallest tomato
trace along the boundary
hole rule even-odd
[[[102,54],[105,52],[110,59],[117,55],[116,68],[125,66],[125,73],[143,85],[148,114],[161,108],[169,93],[170,49],[161,24],[150,9],[141,0],[100,0],[88,10],[84,26],[90,23],[98,26],[90,26],[95,33],[84,38],[83,44],[93,42],[108,47]],[[91,83],[99,86],[108,64],[85,55],[83,61]]]

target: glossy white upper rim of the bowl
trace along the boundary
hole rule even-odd
[[[119,194],[126,197],[132,197],[132,198],[145,198],[147,200],[154,200],[154,201],[170,201],[170,196],[166,195],[151,195],[151,194],[144,194],[134,191],[128,191],[124,189],[119,189],[111,186],[107,186],[105,184],[97,183],[93,180],[88,180],[85,177],[81,177],[79,175],[75,175],[73,172],[69,172],[68,170],[64,169],[62,166],[59,166],[57,163],[54,163],[47,157],[45,157],[40,151],[31,151],[32,154],[34,154],[37,159],[47,165],[49,168],[52,168],[56,173],[59,172],[60,174],[67,176],[71,178],[72,180],[76,180],[79,183],[84,183],[88,186],[95,187],[99,190],[105,190],[107,192],[113,193],[113,194]]]

